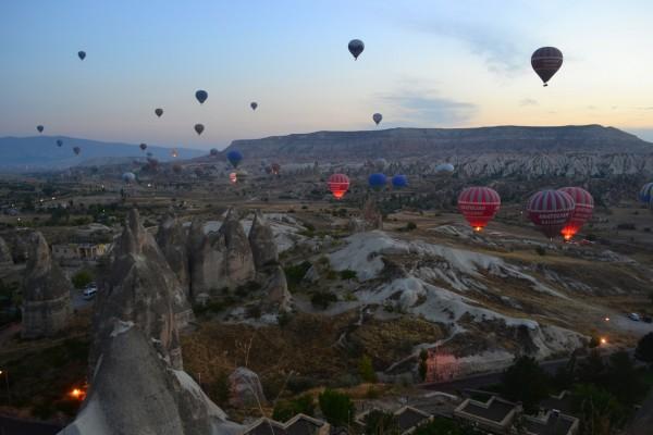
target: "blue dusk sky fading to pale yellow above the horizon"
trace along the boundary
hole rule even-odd
[[[652,16],[648,0],[3,0],[0,136],[42,124],[208,149],[315,130],[603,124],[653,141]],[[542,46],[565,55],[546,88],[530,66]]]

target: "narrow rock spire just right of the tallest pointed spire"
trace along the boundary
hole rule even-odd
[[[176,216],[169,214],[159,225],[157,233],[157,243],[168,260],[170,269],[175,273],[182,287],[188,296],[189,273],[188,273],[188,250],[186,249],[187,236]]]

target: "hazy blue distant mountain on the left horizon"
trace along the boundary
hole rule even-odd
[[[58,147],[61,139],[63,146]],[[82,152],[75,156],[73,147],[79,147]],[[180,159],[192,159],[207,154],[207,151],[176,148]],[[143,158],[151,152],[160,161],[172,159],[172,148],[149,146],[141,151],[137,144],[106,142],[72,138],[66,136],[30,136],[0,138],[0,170],[2,171],[41,171],[58,170],[69,166],[93,164],[101,165],[120,161],[125,158]]]

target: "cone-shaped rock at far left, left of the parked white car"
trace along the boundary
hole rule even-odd
[[[23,288],[23,337],[48,337],[67,325],[72,285],[52,261],[42,234],[33,233],[29,247]]]

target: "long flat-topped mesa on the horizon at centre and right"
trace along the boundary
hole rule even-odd
[[[455,157],[484,153],[653,152],[653,144],[614,127],[496,126],[477,128],[390,128],[316,132],[234,140],[246,159],[346,161]]]

